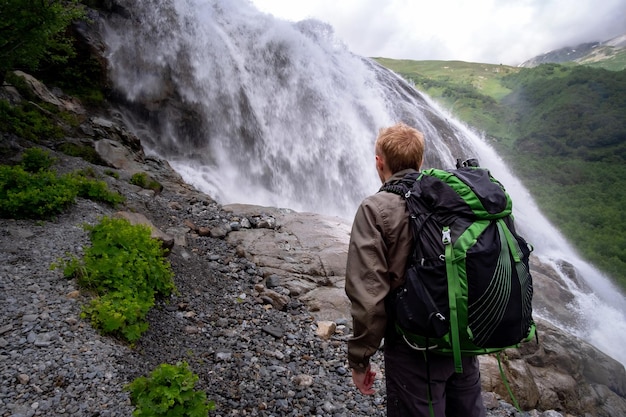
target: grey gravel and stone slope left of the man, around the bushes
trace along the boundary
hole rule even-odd
[[[62,170],[84,168],[61,156]],[[94,168],[94,167],[92,167]],[[95,167],[102,173],[102,167]],[[238,227],[241,219],[178,181],[158,195],[132,186],[128,173],[103,175],[143,213],[176,237],[169,255],[178,292],[149,314],[133,347],[98,334],[80,318],[87,295],[50,266],[89,245],[82,224],[116,210],[79,199],[52,221],[0,219],[0,416],[130,416],[124,386],[161,363],[185,361],[212,416],[384,416],[384,370],[374,396],[353,387],[346,323],[328,340],[290,298],[281,310],[261,293],[263,271],[220,237],[193,230]],[[273,288],[280,293],[280,287]],[[485,393],[488,416],[522,415]],[[525,415],[560,416],[536,411]]]

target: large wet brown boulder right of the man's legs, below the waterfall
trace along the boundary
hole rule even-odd
[[[589,343],[537,320],[539,343],[501,354],[506,380],[522,409],[574,415],[626,415],[624,366]],[[508,398],[494,355],[479,358],[483,390]]]

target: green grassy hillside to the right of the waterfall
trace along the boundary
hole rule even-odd
[[[582,256],[626,288],[626,70],[376,60],[485,132]]]

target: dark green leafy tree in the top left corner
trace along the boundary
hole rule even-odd
[[[63,33],[82,16],[78,0],[0,1],[0,83],[7,71],[37,69],[46,55],[66,61],[74,50]]]

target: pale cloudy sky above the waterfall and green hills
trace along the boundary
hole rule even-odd
[[[626,0],[251,0],[261,11],[330,23],[359,55],[517,65],[626,33]]]

